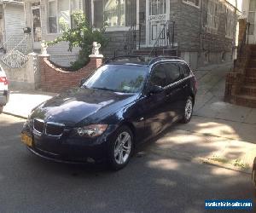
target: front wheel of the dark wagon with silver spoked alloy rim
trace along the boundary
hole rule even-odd
[[[121,170],[129,163],[134,148],[133,140],[129,127],[121,126],[116,130],[108,145],[108,165],[111,170]]]

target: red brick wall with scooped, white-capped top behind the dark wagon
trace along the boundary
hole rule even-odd
[[[102,58],[90,58],[87,66],[79,71],[67,72],[49,61],[49,56],[40,55],[41,89],[47,92],[60,93],[66,89],[79,86],[81,79],[86,78],[97,67],[102,65]]]

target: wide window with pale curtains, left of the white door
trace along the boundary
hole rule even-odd
[[[137,3],[134,0],[92,0],[93,26],[131,26],[136,23]]]

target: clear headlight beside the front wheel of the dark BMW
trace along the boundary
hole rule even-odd
[[[103,134],[107,130],[108,124],[91,124],[84,127],[75,128],[76,135],[81,137],[96,137]]]

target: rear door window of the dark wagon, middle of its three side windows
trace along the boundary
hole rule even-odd
[[[183,78],[183,72],[177,63],[166,63],[165,66],[168,84],[175,83]]]

